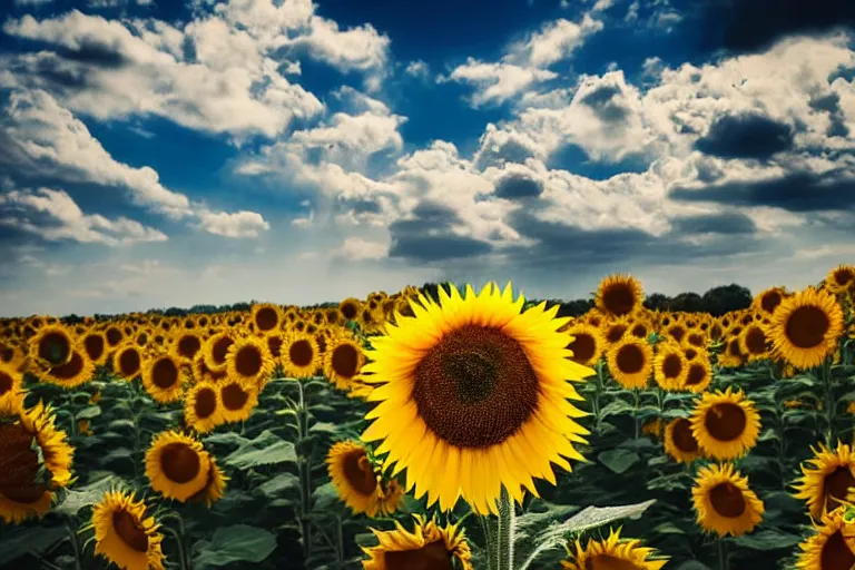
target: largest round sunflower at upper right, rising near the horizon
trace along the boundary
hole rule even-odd
[[[808,287],[784,299],[772,315],[775,351],[799,368],[812,368],[837,347],[843,309],[834,295]]]

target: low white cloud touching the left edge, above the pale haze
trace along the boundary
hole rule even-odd
[[[166,242],[161,232],[119,217],[83,214],[63,190],[11,190],[0,196],[0,225],[36,234],[49,242],[70,239],[110,246],[135,242]]]

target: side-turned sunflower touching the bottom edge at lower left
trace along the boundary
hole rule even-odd
[[[109,491],[92,507],[95,553],[126,570],[164,570],[164,535],[146,503],[132,493]]]

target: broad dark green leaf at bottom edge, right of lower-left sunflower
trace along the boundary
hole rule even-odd
[[[261,562],[276,550],[276,535],[257,527],[235,524],[214,531],[193,560],[194,568],[222,567],[232,562]]]

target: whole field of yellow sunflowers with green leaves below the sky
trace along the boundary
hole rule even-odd
[[[0,569],[852,570],[855,267],[0,320]]]

